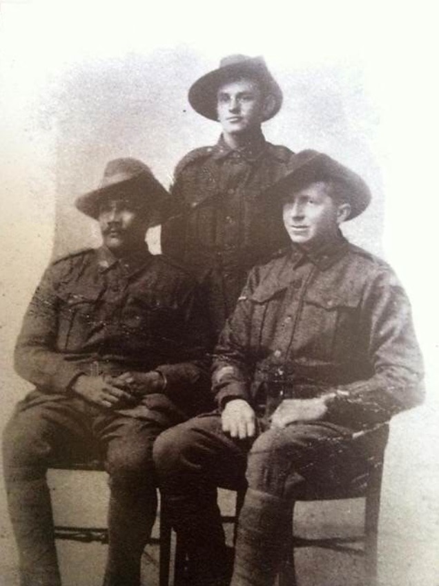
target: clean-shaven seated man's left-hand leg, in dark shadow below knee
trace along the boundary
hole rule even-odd
[[[193,583],[222,585],[229,558],[216,486],[242,486],[246,442],[222,433],[219,415],[195,417],[163,433],[154,458],[170,521],[184,542]]]

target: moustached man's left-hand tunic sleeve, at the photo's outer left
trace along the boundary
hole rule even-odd
[[[46,270],[23,319],[14,352],[17,373],[47,393],[66,393],[83,374],[56,350],[62,263]]]

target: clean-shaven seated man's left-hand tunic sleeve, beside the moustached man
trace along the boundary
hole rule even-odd
[[[250,299],[256,281],[256,270],[253,269],[215,348],[212,390],[220,409],[231,399],[251,402],[249,390],[255,371],[255,359],[251,352],[253,310]]]

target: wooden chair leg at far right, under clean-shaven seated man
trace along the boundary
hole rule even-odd
[[[380,518],[381,481],[382,466],[378,466],[369,476],[364,512],[364,558],[368,586],[376,586],[378,579],[378,521]]]

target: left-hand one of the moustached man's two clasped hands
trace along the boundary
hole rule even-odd
[[[137,399],[130,393],[113,386],[104,376],[88,377],[81,375],[72,385],[72,390],[86,401],[108,409],[124,408],[133,404],[133,402],[137,403]]]

